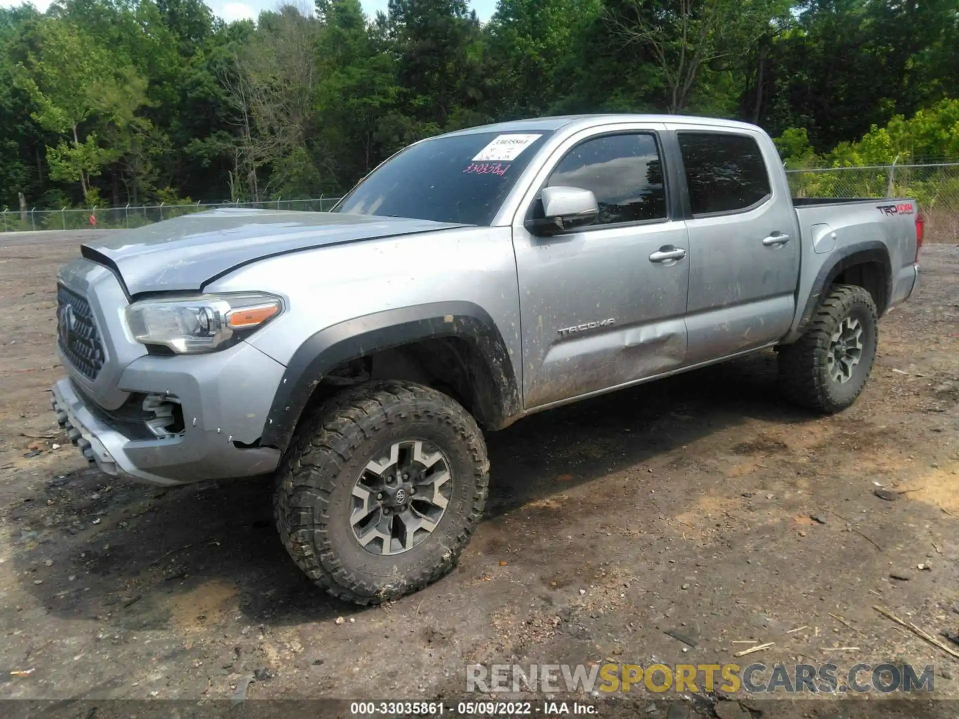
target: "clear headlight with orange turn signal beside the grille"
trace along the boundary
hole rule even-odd
[[[127,324],[141,344],[193,355],[239,341],[282,310],[279,297],[259,292],[164,297],[134,302],[127,308]]]

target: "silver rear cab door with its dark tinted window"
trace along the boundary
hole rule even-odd
[[[745,128],[669,127],[689,190],[686,363],[774,342],[795,313],[800,240],[788,187],[763,157],[767,141]]]

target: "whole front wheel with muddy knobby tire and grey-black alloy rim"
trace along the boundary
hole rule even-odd
[[[293,562],[340,599],[378,604],[456,565],[486,501],[473,417],[407,382],[361,384],[300,423],[273,515]]]

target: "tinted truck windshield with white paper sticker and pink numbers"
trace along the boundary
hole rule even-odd
[[[386,161],[334,212],[488,225],[549,130],[436,137]]]

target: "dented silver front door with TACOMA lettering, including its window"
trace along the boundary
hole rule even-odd
[[[526,409],[681,366],[690,264],[670,217],[655,129],[588,130],[550,158],[513,225]],[[545,186],[591,190],[599,217],[553,237],[526,231]]]

